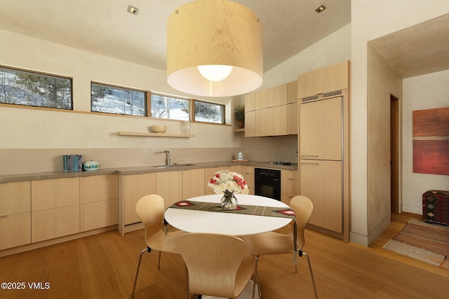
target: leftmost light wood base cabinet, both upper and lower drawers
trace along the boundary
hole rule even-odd
[[[31,243],[31,183],[0,183],[0,250]]]

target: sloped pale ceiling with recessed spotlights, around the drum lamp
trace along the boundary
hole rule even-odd
[[[165,70],[168,15],[189,1],[0,0],[0,29]],[[264,71],[351,22],[351,0],[234,1],[262,20]]]

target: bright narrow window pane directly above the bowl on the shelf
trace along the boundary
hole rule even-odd
[[[189,100],[152,93],[152,118],[189,120]]]

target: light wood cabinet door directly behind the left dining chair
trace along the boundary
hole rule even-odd
[[[140,222],[135,204],[145,195],[156,193],[156,174],[128,174],[121,177],[121,217],[123,225]],[[121,227],[119,227],[122,229]]]

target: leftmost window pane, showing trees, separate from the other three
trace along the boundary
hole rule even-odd
[[[72,79],[0,67],[0,103],[72,110]]]

